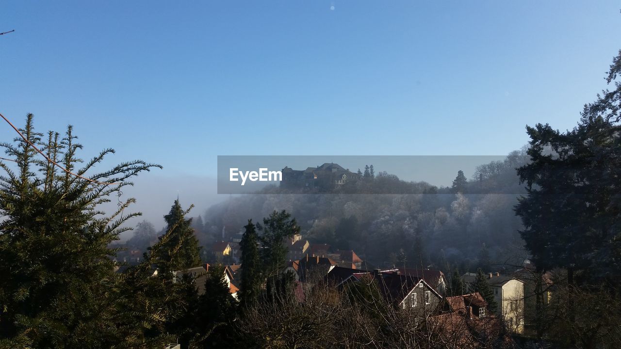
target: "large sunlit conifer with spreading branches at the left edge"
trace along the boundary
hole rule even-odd
[[[134,199],[110,215],[100,205],[161,166],[136,160],[89,174],[114,150],[83,162],[73,127],[43,138],[32,114],[20,132],[25,139],[0,145],[15,161],[0,161],[0,347],[102,348],[140,337],[136,324],[119,324],[122,280],[108,248],[138,215],[125,212]]]

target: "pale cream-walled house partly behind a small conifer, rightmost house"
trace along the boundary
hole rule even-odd
[[[512,332],[524,332],[524,281],[515,276],[505,276],[500,273],[485,275],[487,284],[494,291],[494,299],[498,304],[496,314],[504,320],[507,328]],[[462,279],[473,291],[476,274],[466,273]]]

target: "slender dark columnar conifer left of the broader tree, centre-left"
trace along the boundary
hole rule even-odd
[[[252,219],[248,220],[248,225],[244,227],[242,241],[239,243],[242,250],[242,284],[239,294],[242,307],[249,307],[256,304],[263,286],[261,276],[261,259],[256,245],[258,235]]]

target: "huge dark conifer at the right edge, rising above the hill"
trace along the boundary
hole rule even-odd
[[[621,50],[603,91],[584,106],[573,130],[527,127],[530,163],[518,169],[527,184],[515,212],[538,273],[564,268],[568,283],[621,289]]]

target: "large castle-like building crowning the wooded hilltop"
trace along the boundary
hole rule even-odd
[[[283,180],[280,186],[291,189],[330,190],[350,181],[358,181],[360,174],[351,172],[336,163],[324,163],[317,168],[309,167],[306,170],[293,170],[285,166],[282,170]]]

